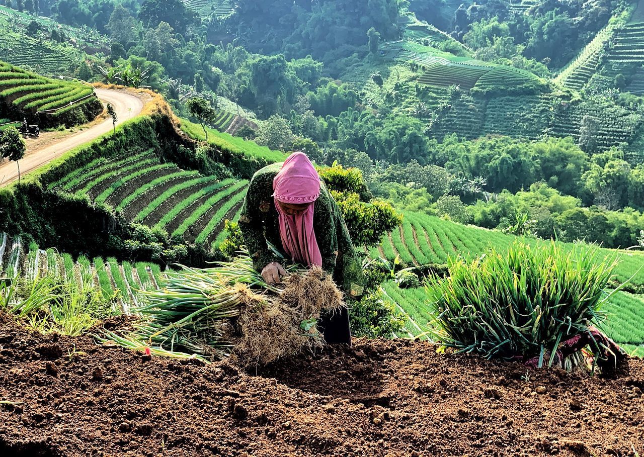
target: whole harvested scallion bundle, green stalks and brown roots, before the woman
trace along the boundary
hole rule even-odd
[[[320,268],[286,268],[278,285],[267,284],[248,256],[215,268],[169,272],[159,290],[142,291],[135,330],[119,339],[128,347],[268,363],[323,344],[321,313],[341,306],[342,294]],[[305,322],[305,325],[303,325]]]

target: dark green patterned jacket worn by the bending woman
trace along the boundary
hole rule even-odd
[[[258,271],[270,262],[280,261],[270,250],[267,241],[283,252],[279,238],[278,212],[272,198],[273,178],[281,165],[282,163],[272,163],[254,174],[240,215],[240,229]],[[336,283],[347,294],[360,297],[365,289],[365,272],[351,242],[345,220],[323,182],[320,196],[314,205],[313,228],[322,254],[322,268],[333,275]]]

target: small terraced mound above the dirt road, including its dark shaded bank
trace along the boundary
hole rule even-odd
[[[88,84],[35,75],[6,62],[0,62],[0,117],[21,120],[27,117],[46,126],[66,123],[66,115],[76,110],[95,118],[102,105]]]

